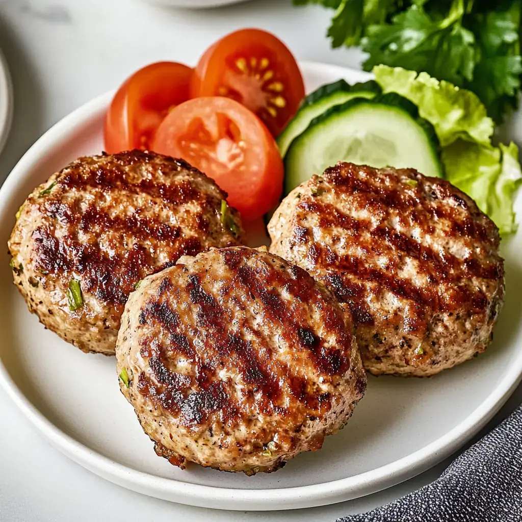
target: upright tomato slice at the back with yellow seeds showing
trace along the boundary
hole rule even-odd
[[[192,98],[226,96],[255,112],[278,136],[304,98],[299,66],[281,40],[242,29],[213,44],[199,60]]]

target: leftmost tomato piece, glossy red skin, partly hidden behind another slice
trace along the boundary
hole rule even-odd
[[[148,150],[156,129],[176,105],[190,97],[193,69],[158,62],[138,70],[118,89],[105,117],[105,150]]]

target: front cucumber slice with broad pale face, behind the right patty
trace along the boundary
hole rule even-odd
[[[417,169],[442,176],[438,141],[417,107],[396,93],[354,98],[312,120],[284,159],[285,194],[338,161]]]

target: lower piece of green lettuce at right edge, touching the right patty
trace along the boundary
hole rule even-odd
[[[514,143],[492,147],[459,139],[442,149],[441,160],[446,179],[477,203],[501,235],[516,231],[513,197],[522,172]]]

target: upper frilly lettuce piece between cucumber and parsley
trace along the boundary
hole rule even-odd
[[[419,115],[435,127],[442,147],[459,138],[490,144],[493,120],[473,92],[402,67],[377,65],[373,74],[384,93],[397,92],[417,105]]]

